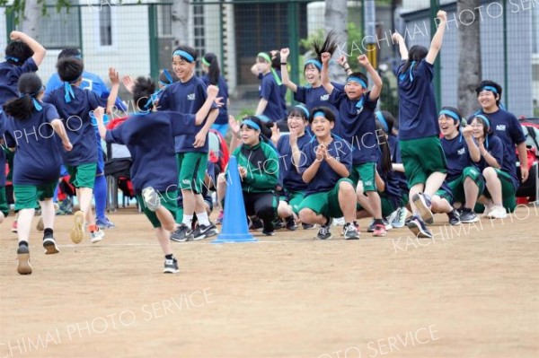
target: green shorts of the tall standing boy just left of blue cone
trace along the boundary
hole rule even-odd
[[[200,194],[208,166],[208,153],[176,153],[176,162],[180,171],[178,182],[181,190],[192,190]]]

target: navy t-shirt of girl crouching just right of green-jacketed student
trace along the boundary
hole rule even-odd
[[[305,135],[297,138],[297,147],[303,151],[305,144],[311,141],[311,135]],[[294,165],[292,163],[292,147],[290,146],[290,135],[281,135],[277,142],[277,151],[279,153],[279,168],[283,174],[283,185],[289,191],[305,191],[307,184],[301,179],[301,175],[297,172],[299,165],[304,158],[300,156],[300,162]]]

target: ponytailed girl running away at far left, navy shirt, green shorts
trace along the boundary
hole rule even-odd
[[[41,102],[43,85],[37,74],[22,74],[19,98],[4,103],[5,141],[17,151],[13,165],[15,211],[19,213],[19,264],[21,275],[31,274],[29,238],[36,202],[40,201],[43,217],[43,248],[46,254],[59,251],[54,239],[55,209],[52,203],[60,173],[61,155],[55,134],[67,152],[73,148],[64,124],[54,106]]]

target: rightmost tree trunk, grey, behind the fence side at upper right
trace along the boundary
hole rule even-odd
[[[464,118],[478,108],[475,87],[482,80],[480,6],[480,0],[456,2],[456,14],[459,17],[457,22],[459,44],[457,107]]]

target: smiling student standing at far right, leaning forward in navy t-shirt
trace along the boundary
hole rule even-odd
[[[517,202],[509,202],[509,199],[510,197],[515,196],[520,182],[525,182],[529,174],[527,167],[526,136],[515,115],[501,107],[500,100],[502,88],[498,83],[482,81],[482,83],[475,89],[475,92],[477,93],[477,100],[481,105],[481,110],[475,113],[475,115],[481,114],[489,119],[490,129],[499,137],[499,139],[501,139],[501,142],[508,153],[507,162],[504,159],[503,168],[510,176],[512,189],[509,187],[505,188],[507,196],[504,196],[504,198],[507,197],[507,200],[504,201],[503,207],[505,207],[509,213],[512,213],[513,210],[515,210],[515,207],[517,207]],[[470,122],[473,120],[473,117],[468,121]],[[518,161],[520,162],[520,180],[517,177],[517,155],[514,150],[515,146],[517,146]],[[499,164],[501,165],[501,163]],[[505,177],[502,180],[505,180]],[[513,191],[514,193],[509,195],[509,191]],[[497,211],[499,213],[495,213],[494,216],[500,216],[501,209],[499,207],[497,208]]]

